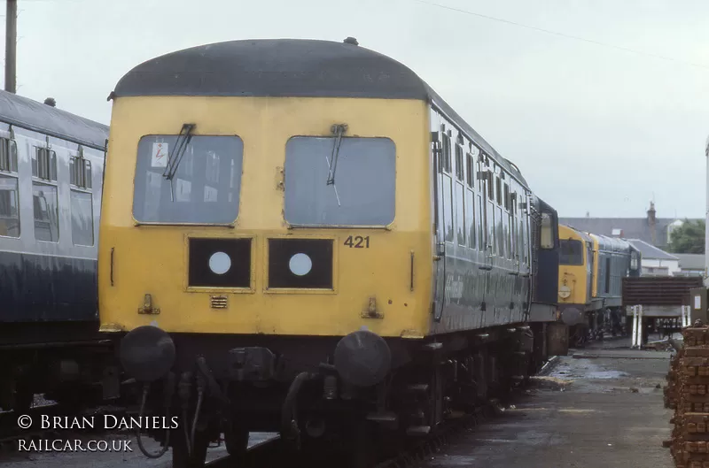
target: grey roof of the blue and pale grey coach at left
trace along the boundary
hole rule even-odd
[[[103,150],[108,127],[71,112],[0,90],[0,121]]]

